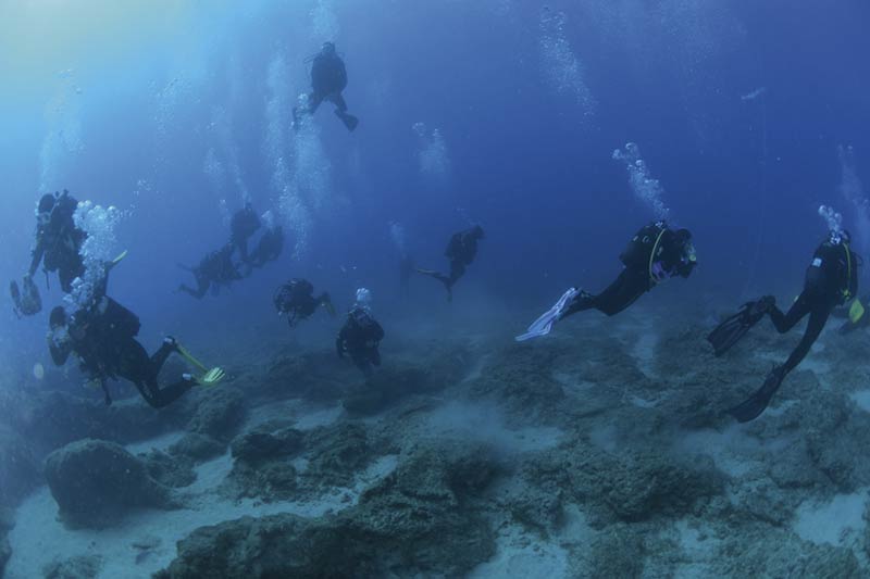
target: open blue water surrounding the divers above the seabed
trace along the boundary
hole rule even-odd
[[[870,254],[868,22],[863,0],[0,0],[0,279],[29,264],[39,197],[69,189],[121,212],[101,231],[129,252],[110,294],[149,350],[169,332],[210,355],[288,340],[271,298],[289,277],[339,310],[371,289],[387,343],[487,311],[507,339],[567,287],[609,282],[662,215],[699,266],[646,302],[712,315],[794,294],[820,205]],[[352,134],[328,104],[290,128],[324,40]],[[246,200],[284,226],[278,262],[217,297],[173,293],[190,282],[176,264],[225,243]],[[402,255],[443,270],[472,224],[486,239],[453,303],[426,278],[403,297]],[[37,282],[38,316],[0,297],[3,390],[58,372],[45,331],[63,295]],[[334,326],[294,339],[330,349]]]

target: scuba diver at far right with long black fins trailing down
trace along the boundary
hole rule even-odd
[[[725,318],[707,337],[716,355],[720,356],[737,343],[765,315],[770,316],[770,320],[780,333],[787,332],[809,315],[804,337],[785,363],[774,366],[765,378],[765,383],[751,397],[729,410],[729,414],[738,421],[748,423],[765,412],[785,376],[807,355],[834,307],[846,303],[858,291],[859,257],[852,251],[849,243],[848,231],[829,232],[828,239],[816,250],[812,262],[807,268],[804,290],[787,314],[783,314],[776,307],[776,300],[772,295],[765,295],[757,301],[745,303],[736,314]]]

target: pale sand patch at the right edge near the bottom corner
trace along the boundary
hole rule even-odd
[[[863,534],[868,489],[837,494],[826,502],[805,501],[795,513],[792,529],[805,541],[841,546]]]

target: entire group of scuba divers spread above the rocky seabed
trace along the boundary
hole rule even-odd
[[[347,86],[347,71],[335,51],[335,45],[325,42],[321,51],[311,59],[311,63],[312,90],[294,109],[294,126],[298,128],[306,115],[313,114],[323,101],[330,101],[335,104],[335,114],[347,129],[356,129],[359,119],[347,112],[347,104],[341,96]],[[87,234],[74,223],[73,215],[77,205],[77,201],[67,191],[46,194],[40,199],[36,212],[36,243],[30,266],[21,287],[15,281],[10,286],[15,312],[20,316],[35,315],[42,309],[39,290],[33,279],[40,263],[47,280],[49,272],[58,273],[61,289],[65,293],[73,290],[76,278],[85,275],[80,249]],[[249,252],[249,240],[262,227],[262,223],[251,205],[246,204],[231,221],[228,243],[206,255],[197,266],[182,266],[192,273],[196,287],[182,284],[177,291],[201,299],[209,290],[217,293],[221,287],[243,279],[251,275],[254,268],[277,260],[284,247],[284,232],[281,226],[269,223],[271,219],[264,221],[268,222],[265,231]],[[445,251],[450,263],[447,274],[415,268],[409,257],[403,257],[400,264],[402,286],[407,290],[410,276],[417,272],[440,281],[447,290],[448,300],[451,300],[453,286],[474,261],[477,244],[483,238],[484,230],[480,226],[455,234]],[[765,316],[769,316],[776,330],[784,333],[809,315],[804,337],[785,363],[774,366],[761,388],[751,397],[729,410],[737,420],[753,420],[767,408],[785,376],[807,355],[832,312],[856,298],[860,259],[849,246],[847,231],[830,231],[816,250],[807,268],[804,290],[787,313],[776,306],[772,295],[765,295],[743,304],[707,337],[714,355],[720,356]],[[110,378],[124,378],[133,382],[142,398],[158,408],[171,404],[196,385],[211,386],[223,379],[223,369],[207,367],[173,337],[164,338],[153,355],[147,354],[135,339],[139,331],[136,314],[105,294],[109,272],[123,255],[103,265],[102,280],[96,284],[88,304],[79,304],[73,313],[67,313],[60,306],[51,311],[48,340],[54,363],[63,365],[74,354],[85,374],[102,387],[108,404],[111,403],[107,389],[107,380]],[[517,340],[545,336],[557,322],[586,310],[598,310],[613,316],[662,281],[672,277],[687,278],[697,265],[688,229],[672,229],[663,221],[651,223],[637,231],[620,260],[623,263],[622,272],[604,291],[593,294],[577,288],[568,289]],[[335,343],[338,356],[348,355],[366,377],[371,376],[373,367],[381,364],[378,345],[384,338],[384,329],[372,316],[370,300],[368,290],[361,288],[357,291],[357,301],[348,312]],[[311,282],[301,278],[290,279],[281,286],[273,301],[278,313],[287,316],[290,327],[310,317],[320,307],[335,315],[330,294],[323,292],[315,297]],[[865,313],[861,301],[855,299],[842,331],[865,326],[869,320],[870,315]],[[158,376],[173,353],[191,364],[196,374],[183,374],[176,382],[161,387]]]

